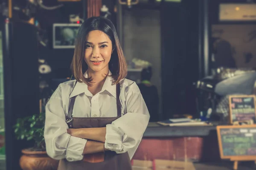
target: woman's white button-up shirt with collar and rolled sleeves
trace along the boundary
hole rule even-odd
[[[87,77],[87,73],[84,76]],[[73,90],[76,80],[58,86],[46,105],[44,139],[50,157],[66,158],[68,161],[79,161],[83,158],[87,139],[67,133],[66,116],[71,97],[76,96],[74,117],[117,116],[116,85],[112,85],[112,80],[113,78],[108,76],[102,90],[94,96],[83,82],[77,82]],[[105,148],[116,153],[128,152],[131,159],[148,125],[149,113],[135,82],[122,79],[119,98],[122,116],[106,126]]]

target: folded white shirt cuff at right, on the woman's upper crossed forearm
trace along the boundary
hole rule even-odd
[[[124,133],[118,127],[113,124],[106,126],[106,141],[105,148],[108,150],[121,152],[122,147],[122,138]]]

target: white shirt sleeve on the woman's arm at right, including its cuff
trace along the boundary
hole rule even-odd
[[[122,102],[123,103],[123,102]],[[106,126],[105,148],[133,157],[148,125],[149,113],[138,86],[128,89],[125,114]]]

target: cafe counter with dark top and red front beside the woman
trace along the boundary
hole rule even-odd
[[[219,161],[216,125],[171,127],[150,122],[133,159]]]

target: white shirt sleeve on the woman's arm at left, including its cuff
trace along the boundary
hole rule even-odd
[[[61,87],[56,89],[46,105],[44,139],[47,154],[53,159],[79,161],[83,159],[86,139],[67,133],[66,114],[63,109]]]

